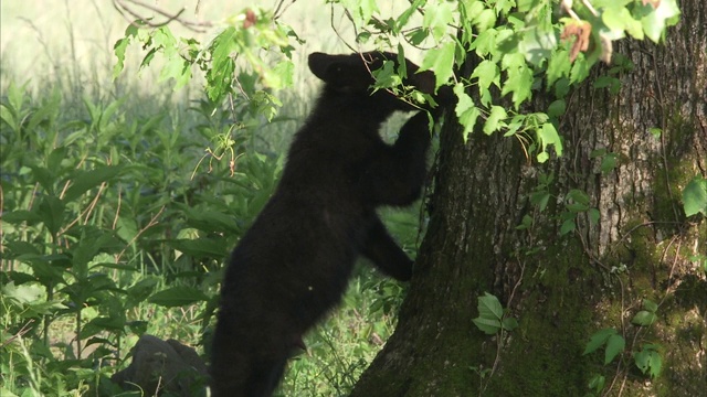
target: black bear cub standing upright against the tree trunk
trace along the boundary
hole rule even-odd
[[[430,146],[424,110],[394,144],[379,136],[393,111],[415,110],[370,88],[370,71],[397,57],[309,55],[309,69],[325,85],[275,193],[231,255],[213,337],[212,396],[271,396],[302,336],[341,299],[359,255],[410,279],[412,260],[376,214],[420,196]],[[415,73],[409,61],[405,67],[404,83],[432,94],[432,72]]]

